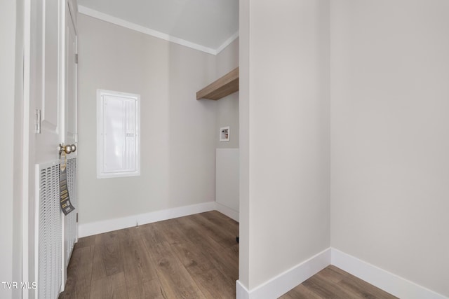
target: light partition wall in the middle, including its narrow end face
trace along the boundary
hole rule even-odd
[[[329,1],[240,9],[239,280],[253,289],[330,246]]]

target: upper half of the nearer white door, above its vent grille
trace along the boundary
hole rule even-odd
[[[40,133],[35,137],[35,163],[58,160],[60,137],[59,9],[60,1],[32,2],[31,101],[40,111]],[[34,18],[34,20],[33,20]]]

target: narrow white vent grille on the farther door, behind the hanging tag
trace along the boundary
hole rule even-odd
[[[70,202],[76,208],[78,208],[78,200],[76,199],[76,158],[70,158],[67,160],[67,188],[69,189]],[[65,233],[65,240],[67,242],[65,249],[67,250],[66,265],[69,265],[70,256],[72,255],[73,247],[76,242],[76,213],[72,211],[67,217],[67,229]]]

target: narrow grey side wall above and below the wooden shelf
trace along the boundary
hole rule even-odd
[[[233,41],[216,57],[216,76],[220,78],[239,67],[239,39]],[[220,142],[220,127],[229,126],[229,141]],[[217,148],[239,148],[239,92],[217,100]]]

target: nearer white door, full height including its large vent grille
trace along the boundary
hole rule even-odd
[[[62,215],[58,211],[60,109],[60,1],[31,1],[30,108],[36,130],[30,132],[30,162],[36,172],[34,207],[35,298],[57,298],[62,286]],[[34,140],[33,140],[34,133]],[[34,146],[33,146],[34,145]],[[34,157],[32,156],[34,153]],[[31,182],[30,182],[31,183]]]

